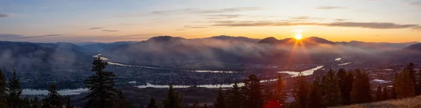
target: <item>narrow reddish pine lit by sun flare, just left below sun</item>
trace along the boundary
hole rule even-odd
[[[284,89],[285,89],[284,80],[282,79],[281,74],[278,74],[278,81],[276,81],[275,100],[281,105],[285,104],[285,100],[286,100],[286,92],[284,91]]]

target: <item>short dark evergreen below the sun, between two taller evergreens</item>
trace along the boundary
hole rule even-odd
[[[323,107],[321,104],[321,84],[319,76],[316,76],[312,83],[312,89],[310,90],[309,95],[309,107],[313,108],[321,108]]]

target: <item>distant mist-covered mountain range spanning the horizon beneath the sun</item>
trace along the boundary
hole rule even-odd
[[[155,36],[146,41],[115,43],[29,43],[0,41],[0,67],[20,69],[84,68],[92,55],[102,53],[112,62],[199,68],[197,64],[323,63],[338,57],[368,62],[420,62],[421,43],[333,42],[319,37],[305,39],[250,39],[213,36],[185,39]],[[69,63],[70,62],[70,63]],[[220,63],[215,63],[220,62]],[[192,67],[194,65],[194,67]],[[87,65],[89,66],[89,65]]]

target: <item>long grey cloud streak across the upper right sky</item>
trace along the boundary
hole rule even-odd
[[[274,22],[274,21],[242,21],[242,22],[215,22],[212,26],[225,27],[265,27],[265,26],[293,26],[293,25],[321,25],[328,27],[361,27],[369,29],[404,29],[418,27],[419,25],[401,25],[392,22]]]

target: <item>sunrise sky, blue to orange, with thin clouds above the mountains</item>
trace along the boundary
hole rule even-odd
[[[0,0],[0,40],[143,41],[152,36],[421,41],[421,0]]]

